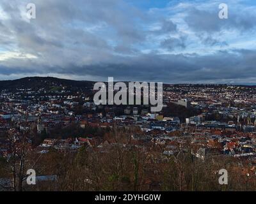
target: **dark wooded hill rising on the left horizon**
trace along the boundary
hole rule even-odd
[[[0,89],[36,89],[41,87],[92,87],[94,82],[67,80],[54,77],[26,77],[0,81]]]

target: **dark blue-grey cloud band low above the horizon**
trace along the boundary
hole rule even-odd
[[[118,64],[92,64],[67,68],[55,67],[61,75],[91,75],[96,78],[115,77],[115,80],[154,81],[154,82],[220,82],[228,83],[234,78],[246,80],[256,78],[256,52],[233,50],[218,52],[214,55],[155,55],[127,57]],[[51,71],[52,68],[44,70]],[[4,68],[5,74],[19,72]],[[8,73],[9,71],[9,73]],[[31,71],[31,70],[30,70]],[[40,73],[44,73],[41,71]],[[200,79],[200,80],[198,80]]]

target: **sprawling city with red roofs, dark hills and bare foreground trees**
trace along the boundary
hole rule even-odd
[[[151,112],[95,105],[93,84],[0,82],[1,190],[255,189],[256,86],[164,84],[163,109]]]

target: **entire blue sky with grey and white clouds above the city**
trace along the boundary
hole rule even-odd
[[[255,45],[255,0],[0,1],[0,80],[256,84]]]

